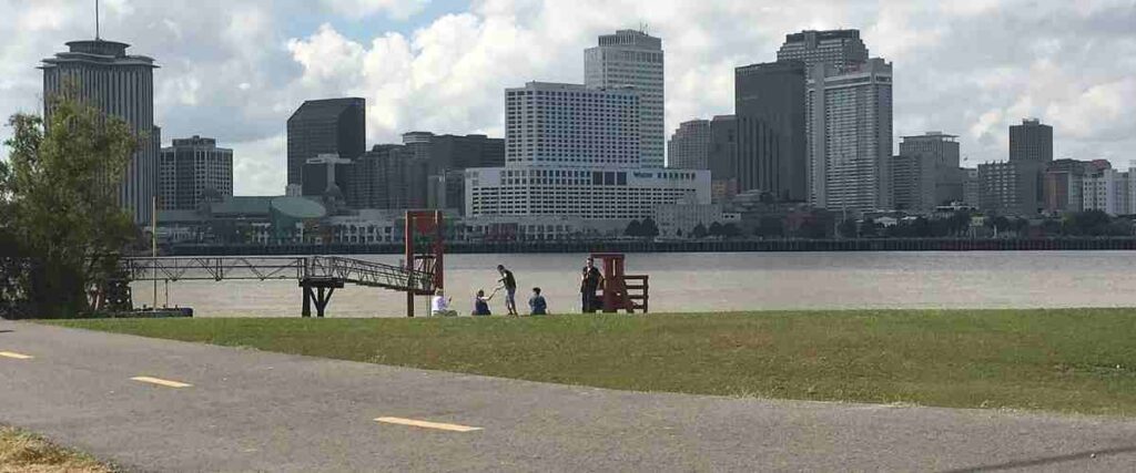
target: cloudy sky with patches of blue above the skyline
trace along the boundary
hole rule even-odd
[[[0,0],[0,115],[37,111],[40,59],[94,35],[92,0]],[[960,135],[1004,160],[1008,126],[1054,126],[1058,158],[1136,160],[1136,0],[103,0],[102,36],[153,57],[162,142],[235,150],[237,194],[277,194],[307,99],[367,99],[368,145],[503,132],[502,90],[582,82],[595,36],[646,25],[667,52],[667,127],[733,112],[736,66],[786,33],[859,28],[895,66],[895,135]],[[0,130],[3,137],[10,130]]]

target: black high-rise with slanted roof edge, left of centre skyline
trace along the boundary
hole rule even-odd
[[[354,159],[367,151],[365,99],[309,100],[287,119],[287,184],[303,184],[303,164],[320,154]]]

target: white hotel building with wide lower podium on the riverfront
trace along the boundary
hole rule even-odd
[[[633,220],[710,203],[710,172],[642,168],[632,87],[531,82],[506,91],[506,167],[466,170],[466,216]]]

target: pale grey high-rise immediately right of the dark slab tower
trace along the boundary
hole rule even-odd
[[[810,74],[810,202],[870,211],[892,206],[892,65],[879,58],[840,71],[819,64]]]

